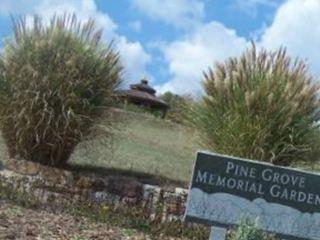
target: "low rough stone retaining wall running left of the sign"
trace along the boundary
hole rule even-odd
[[[30,193],[43,204],[90,201],[139,206],[151,220],[162,222],[182,220],[188,193],[183,188],[142,184],[130,177],[85,174],[16,159],[0,162],[0,183],[14,191]]]

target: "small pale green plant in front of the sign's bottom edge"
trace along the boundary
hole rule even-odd
[[[275,237],[259,230],[255,224],[242,221],[237,229],[231,232],[230,240],[276,240]]]

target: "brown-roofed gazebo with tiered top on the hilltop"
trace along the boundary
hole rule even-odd
[[[118,91],[117,98],[125,104],[132,103],[149,109],[161,110],[164,117],[169,106],[155,94],[156,90],[148,84],[148,80],[142,79],[140,83],[130,85],[130,89]]]

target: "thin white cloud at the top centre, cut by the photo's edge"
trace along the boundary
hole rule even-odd
[[[178,28],[194,27],[204,16],[199,0],[133,0],[132,4],[149,18]]]

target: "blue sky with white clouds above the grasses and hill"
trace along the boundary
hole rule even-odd
[[[320,77],[320,0],[0,0],[0,48],[11,16],[75,13],[113,40],[125,86],[148,78],[159,94],[198,95],[203,71],[259,48],[285,46]]]

